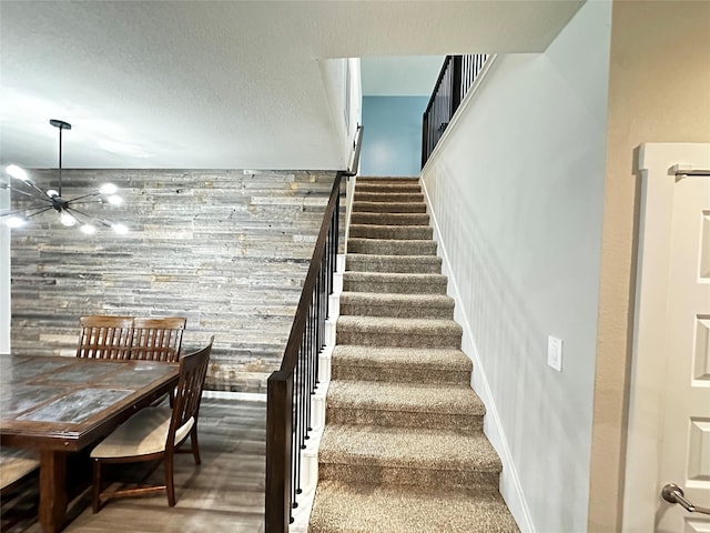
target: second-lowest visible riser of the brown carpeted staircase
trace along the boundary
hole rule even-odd
[[[368,409],[353,409],[352,406],[328,406],[326,412],[326,423],[466,432],[479,432],[483,431],[484,428],[483,416],[442,413],[412,413],[402,411],[377,411]]]

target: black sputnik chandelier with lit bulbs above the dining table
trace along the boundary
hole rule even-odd
[[[88,235],[95,233],[98,227],[111,228],[119,234],[128,233],[128,228],[124,224],[97,218],[83,211],[83,205],[90,203],[120,205],[123,200],[116,194],[118,189],[114,184],[105,183],[95,191],[71,199],[62,197],[62,131],[71,130],[71,124],[57,119],[50,120],[49,123],[59,129],[59,187],[57,190],[49,189],[45,191],[38,187],[24,169],[17,164],[8,164],[4,169],[6,174],[11,179],[21,181],[24,187],[13,187],[11,185],[11,180],[9,180],[0,182],[0,189],[28,197],[32,200],[32,203],[22,209],[0,211],[0,220],[10,228],[20,228],[29,222],[32,217],[54,210],[59,213],[59,220],[63,225],[68,228],[79,225],[81,231]]]

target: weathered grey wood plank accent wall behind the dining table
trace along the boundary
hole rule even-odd
[[[57,171],[36,171],[55,187]],[[87,237],[55,212],[12,230],[12,352],[73,355],[84,314],[187,316],[183,351],[215,335],[207,388],[264,392],[281,364],[334,173],[69,170],[64,198],[112,182],[124,222]],[[16,201],[21,199],[16,195]]]

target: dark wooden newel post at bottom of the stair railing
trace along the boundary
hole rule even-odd
[[[293,381],[281,371],[266,383],[265,533],[287,533],[291,521]]]

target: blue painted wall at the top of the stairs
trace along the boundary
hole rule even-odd
[[[361,175],[419,175],[429,97],[363,97]]]

